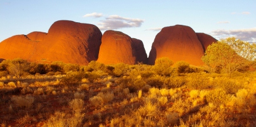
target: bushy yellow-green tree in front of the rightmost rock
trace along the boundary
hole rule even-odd
[[[229,39],[230,38],[211,44],[207,47],[205,56],[202,57],[203,62],[212,68],[213,72],[216,72],[217,69],[221,69],[223,72],[231,74],[236,70],[245,70],[250,64],[246,58],[239,55],[240,52],[237,53],[236,50],[227,43]],[[245,53],[247,50],[243,48],[243,50],[237,51],[243,51],[243,53]]]

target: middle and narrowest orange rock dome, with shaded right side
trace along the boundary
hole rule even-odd
[[[137,64],[147,62],[142,41],[131,39],[123,32],[107,30],[102,36],[102,45],[97,62],[103,64]]]

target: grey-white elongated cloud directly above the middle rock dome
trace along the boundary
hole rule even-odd
[[[110,15],[98,23],[100,30],[121,29],[128,27],[140,27],[144,20],[138,18],[125,18],[118,15]]]

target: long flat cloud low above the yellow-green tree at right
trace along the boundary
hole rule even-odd
[[[250,43],[256,43],[256,27],[250,29],[237,29],[237,30],[214,30],[211,33],[219,39],[225,39],[227,37],[236,37],[243,41]]]

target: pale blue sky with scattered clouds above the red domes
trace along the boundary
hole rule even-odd
[[[57,20],[90,23],[102,34],[121,31],[142,40],[147,55],[156,34],[177,24],[216,39],[256,43],[255,0],[0,0],[0,42],[17,34],[48,32]]]

